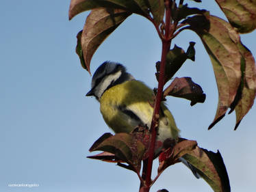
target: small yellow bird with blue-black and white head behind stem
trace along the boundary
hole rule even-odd
[[[151,127],[154,92],[136,80],[122,64],[103,62],[94,72],[91,90],[86,96],[94,96],[99,101],[103,119],[114,133],[131,133],[138,126]],[[177,139],[180,131],[172,113],[164,102],[160,108],[156,141],[164,143],[166,139]],[[200,178],[195,167],[185,159],[180,161],[192,170],[196,178]]]

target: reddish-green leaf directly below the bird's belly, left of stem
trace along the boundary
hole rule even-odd
[[[103,135],[102,137],[96,141],[97,143],[93,144],[90,152],[99,150],[110,152],[117,159],[125,161],[135,169],[140,170],[140,163],[146,150],[141,141],[128,133],[117,133],[111,137],[104,137]]]

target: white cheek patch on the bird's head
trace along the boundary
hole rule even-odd
[[[103,92],[105,92],[107,87],[113,81],[116,81],[121,76],[121,74],[122,74],[122,72],[119,70],[118,72],[116,72],[114,74],[107,75],[105,78],[103,78],[101,80],[101,83],[99,83],[99,85],[97,85],[97,87],[95,87],[95,92],[94,93],[97,94],[97,97],[101,98],[101,95],[103,94]]]

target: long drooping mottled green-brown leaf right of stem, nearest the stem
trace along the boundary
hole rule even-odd
[[[198,22],[203,23],[198,23]],[[212,128],[220,121],[231,106],[241,82],[241,59],[238,49],[238,33],[221,18],[216,16],[193,16],[183,21],[201,38],[212,61],[216,77],[219,100]],[[228,25],[230,27],[228,27]]]

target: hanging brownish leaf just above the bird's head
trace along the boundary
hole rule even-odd
[[[90,72],[90,61],[95,51],[105,38],[130,15],[125,10],[107,10],[105,8],[97,8],[90,12],[81,34],[81,48],[88,72]]]

